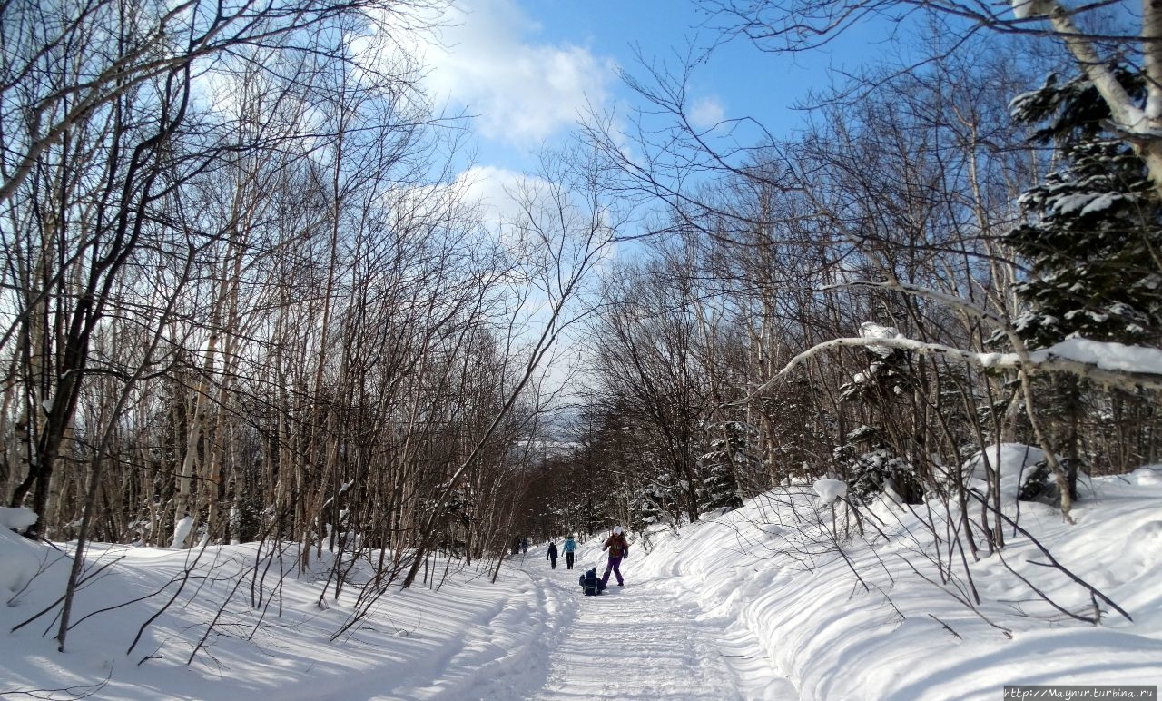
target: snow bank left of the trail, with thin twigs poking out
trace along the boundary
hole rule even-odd
[[[294,550],[256,543],[201,551],[94,544],[92,577],[59,653],[51,614],[9,631],[60,596],[67,555],[0,529],[0,696],[462,699],[476,679],[503,678],[543,622],[528,578],[504,568],[492,584],[488,563],[453,564],[439,591],[422,581],[392,587],[343,630],[358,588],[335,599],[331,553],[300,575]],[[439,581],[444,573],[436,560],[421,574]],[[366,577],[360,567],[352,574]]]

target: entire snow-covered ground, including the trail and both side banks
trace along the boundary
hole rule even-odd
[[[878,507],[882,537],[820,546],[810,523],[829,508],[803,486],[677,532],[631,534],[626,586],[597,598],[576,584],[601,561],[595,543],[582,545],[572,571],[564,558],[551,570],[537,546],[495,585],[472,566],[453,570],[438,591],[393,588],[335,641],[353,589],[320,607],[322,579],[277,586],[275,561],[265,581],[239,581],[241,566],[260,559],[256,546],[209,549],[196,570],[205,577],[191,579],[128,653],[177,592],[165,585],[186,570],[187,552],[95,549],[112,564],[81,591],[80,623],[58,653],[51,611],[8,631],[59,595],[65,560],[3,530],[0,695],[903,701],[995,700],[1003,685],[1021,682],[1153,686],[1162,684],[1160,503],[1162,467],[1147,467],[1095,480],[1076,525],[1047,507],[1021,507],[1023,527],[1132,622],[1107,606],[1102,625],[1075,622],[996,557],[971,566],[982,603],[964,606],[962,577],[942,584],[918,566],[933,579],[925,581],[904,564],[923,564],[934,545],[911,539],[918,516],[889,505]],[[1032,564],[1043,556],[1028,543],[1012,538],[1005,558],[1067,610],[1089,609],[1088,592]]]

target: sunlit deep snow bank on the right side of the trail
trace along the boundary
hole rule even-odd
[[[1031,457],[1000,451],[1009,477]],[[1133,621],[1103,606],[1093,627],[1040,601],[1006,563],[1067,610],[1092,610],[1089,592],[1033,564],[1045,556],[1011,529],[1004,561],[982,552],[971,582],[954,567],[941,584],[933,563],[948,553],[921,528],[924,510],[883,505],[874,528],[861,536],[852,525],[845,541],[813,484],[676,536],[659,530],[639,565],[672,578],[698,602],[700,618],[753,634],[803,700],[991,701],[1006,684],[1162,684],[1162,470],[1098,478],[1092,488],[1095,498],[1075,505],[1076,525],[1040,503],[1021,505],[1020,524]]]

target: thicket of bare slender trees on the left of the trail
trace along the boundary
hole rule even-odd
[[[439,5],[0,8],[27,535],[327,549],[336,594],[353,558],[407,585],[508,542],[538,367],[617,222],[569,157],[485,224],[403,48]]]

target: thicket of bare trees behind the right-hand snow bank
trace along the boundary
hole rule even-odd
[[[623,156],[625,135],[590,130],[623,173],[623,192],[668,212],[660,243],[618,271],[594,323],[603,401],[591,421],[610,429],[587,455],[601,452],[616,475],[605,482],[608,518],[696,518],[789,479],[823,477],[845,480],[855,505],[881,493],[904,503],[939,495],[963,513],[973,495],[961,465],[1005,442],[1050,453],[1024,496],[1041,489],[1068,518],[1078,472],[1120,473],[1159,458],[1156,382],[978,360],[994,351],[1027,359],[1066,339],[1024,332],[1031,316],[1053,321],[1059,310],[1071,323],[1053,328],[1070,331],[1079,315],[1110,327],[1133,312],[1120,336],[1068,337],[1159,346],[1162,258],[1145,159],[1120,178],[1125,164],[1082,153],[1083,176],[1109,176],[1104,189],[1082,176],[1062,189],[1055,174],[1077,172],[1078,151],[1054,148],[1047,131],[1129,138],[1086,76],[1012,55],[995,36],[964,41],[953,52],[930,47],[937,58],[920,65],[869,69],[818,95],[809,129],[760,148],[738,142],[745,123],[696,126],[687,74],[658,69],[653,83],[633,84],[652,106],[630,133],[644,157]],[[1049,70],[1079,74],[1069,85],[1081,96],[1030,93],[1010,107]],[[1138,85],[1128,94],[1141,106]],[[1010,116],[1034,100],[1040,112]],[[1111,192],[1111,181],[1125,189]],[[1071,205],[1069,195],[1086,199]],[[1095,205],[1084,209],[1089,223],[1078,219],[1106,201],[1109,212]],[[1117,209],[1122,202],[1128,214]],[[1092,220],[1103,215],[1118,217],[1118,235],[1107,236],[1117,244],[1098,244],[1104,229]],[[1030,227],[1037,237],[1021,249],[1012,233]],[[1111,245],[1121,249],[1105,252]],[[1076,294],[1049,307],[1030,292],[1053,280]],[[999,508],[996,471],[988,481]],[[996,523],[987,530],[970,537],[1003,543]]]

